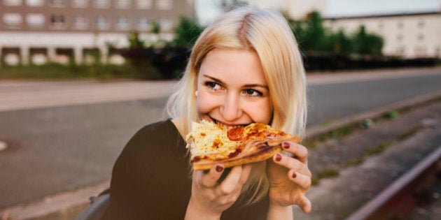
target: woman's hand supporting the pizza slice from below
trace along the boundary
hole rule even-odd
[[[218,179],[224,172],[222,164],[217,164],[208,173],[202,170],[195,171],[186,219],[195,219],[194,217],[219,219],[222,212],[239,198],[251,168],[251,164],[236,166],[220,183]]]

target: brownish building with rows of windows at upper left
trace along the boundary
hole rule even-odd
[[[127,47],[139,31],[151,41],[172,38],[179,16],[195,16],[194,0],[0,0],[1,65],[45,61],[123,61],[112,47]],[[159,24],[160,34],[151,33]]]

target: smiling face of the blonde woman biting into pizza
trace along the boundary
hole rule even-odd
[[[258,54],[250,50],[211,50],[197,76],[200,119],[226,127],[269,124],[271,101]]]

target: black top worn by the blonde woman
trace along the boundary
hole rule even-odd
[[[113,167],[111,205],[104,219],[183,219],[191,195],[189,154],[171,120],[145,126]],[[253,205],[241,200],[221,219],[266,219],[267,196]]]

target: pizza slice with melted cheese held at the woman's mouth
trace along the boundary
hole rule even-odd
[[[230,168],[264,161],[282,151],[283,141],[300,142],[300,137],[261,123],[225,129],[202,120],[200,123],[193,122],[186,140],[194,170],[208,170],[216,163]]]

